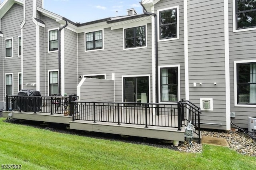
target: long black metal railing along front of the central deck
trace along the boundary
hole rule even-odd
[[[180,114],[177,104],[72,102],[71,107],[76,108],[73,121],[176,127],[178,130],[182,126],[177,121]]]

